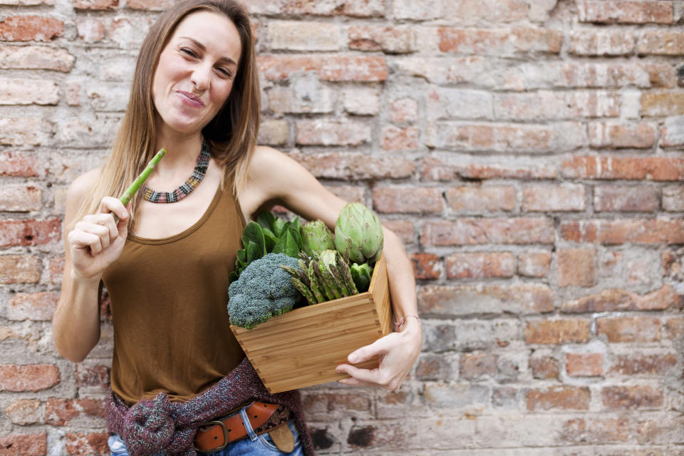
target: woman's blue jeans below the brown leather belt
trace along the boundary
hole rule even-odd
[[[289,453],[284,453],[276,448],[271,436],[268,432],[263,434],[255,434],[252,429],[252,424],[247,420],[247,414],[244,412],[244,408],[240,410],[240,415],[242,415],[242,423],[247,429],[248,436],[242,440],[236,440],[235,442],[229,443],[223,450],[213,452],[213,453],[200,453],[197,455],[207,454],[208,456],[275,456],[275,455],[288,455],[288,456],[302,456],[304,453],[301,450],[301,442],[299,441],[299,432],[294,425],[293,420],[289,420],[287,425],[289,426],[292,434],[294,435],[294,450]],[[118,435],[114,434],[109,437],[109,450],[112,452],[112,456],[129,456],[128,449],[123,439]]]

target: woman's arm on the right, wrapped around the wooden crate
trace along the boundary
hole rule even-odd
[[[257,147],[254,151],[245,190],[241,192],[240,204],[248,215],[254,215],[265,203],[282,204],[306,219],[322,220],[331,229],[346,204],[298,162],[270,147]],[[413,266],[398,237],[389,229],[383,228],[383,232],[390,298],[395,318],[397,321],[404,319],[404,322],[398,332],[350,353],[349,364],[338,366],[337,371],[351,376],[340,380],[341,383],[394,390],[400,387],[418,358],[423,334],[417,318]],[[378,368],[368,370],[352,366],[374,356],[380,357]]]

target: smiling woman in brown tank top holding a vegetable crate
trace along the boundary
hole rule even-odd
[[[333,227],[345,202],[286,155],[257,146],[258,125],[244,8],[233,0],[182,1],[142,44],[110,159],[69,187],[53,334],[69,360],[88,355],[100,338],[104,282],[114,324],[107,415],[115,455],[195,454],[195,447],[216,455],[314,454],[299,395],[266,393],[229,331],[227,276],[245,220],[262,209],[282,204]],[[167,155],[123,207],[115,196],[162,147]],[[350,375],[341,383],[398,388],[420,351],[413,270],[388,230],[384,252],[400,331],[351,353],[338,366]],[[381,356],[378,369],[352,366],[373,356]],[[264,409],[254,421],[257,404]],[[239,436],[216,423],[226,416],[238,420]]]

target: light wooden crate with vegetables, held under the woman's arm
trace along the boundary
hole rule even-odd
[[[347,356],[391,331],[392,310],[384,257],[368,291],[301,307],[248,330],[231,326],[269,393],[328,383]],[[375,368],[378,359],[356,365]]]

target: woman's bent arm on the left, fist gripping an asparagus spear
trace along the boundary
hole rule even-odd
[[[98,170],[78,177],[66,194],[64,226],[73,224],[83,199],[93,188]],[[114,212],[119,217],[115,224]],[[62,291],[52,319],[57,351],[80,363],[100,340],[100,279],[107,266],[118,259],[128,236],[128,211],[116,198],[105,197],[98,212],[78,220],[64,234]]]

